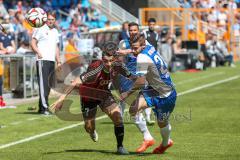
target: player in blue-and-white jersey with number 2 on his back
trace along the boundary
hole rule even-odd
[[[131,105],[129,112],[135,116],[146,107],[153,108],[162,136],[161,144],[153,150],[153,153],[162,154],[173,145],[170,139],[169,116],[175,107],[177,93],[167,64],[153,46],[146,45],[144,35],[138,34],[132,38],[131,48],[137,57],[137,70],[136,75],[130,78],[136,79],[134,88],[141,88],[142,91]]]

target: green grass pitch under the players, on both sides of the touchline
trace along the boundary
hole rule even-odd
[[[236,68],[219,67],[197,73],[173,73],[178,93],[240,75]],[[71,111],[80,113],[79,98],[72,97]],[[53,101],[53,100],[52,100]],[[56,116],[40,116],[27,111],[33,104],[0,110],[0,146],[41,133],[63,128],[79,121],[62,121]],[[144,154],[135,154],[142,136],[125,117],[124,145],[130,155],[115,154],[113,125],[108,118],[97,121],[99,141],[94,143],[82,125],[0,149],[0,160],[238,160],[240,159],[240,78],[179,96],[171,117],[174,145],[163,155],[151,154],[160,141],[159,128],[149,126],[156,144]],[[5,127],[4,127],[5,126]],[[1,148],[1,147],[0,147]]]

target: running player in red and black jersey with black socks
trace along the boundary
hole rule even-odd
[[[97,106],[105,112],[114,123],[114,132],[117,139],[117,152],[128,154],[123,147],[124,125],[120,109],[109,89],[113,68],[118,73],[128,76],[130,72],[121,63],[115,61],[117,45],[108,42],[103,47],[102,60],[93,61],[87,71],[80,75],[82,83],[79,85],[82,113],[85,122],[85,130],[93,141],[98,140],[95,129]],[[113,67],[114,66],[114,67]]]

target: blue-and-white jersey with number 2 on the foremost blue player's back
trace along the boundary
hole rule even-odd
[[[160,97],[168,97],[174,89],[166,62],[151,45],[146,45],[138,55],[136,73],[144,74],[147,88],[153,88]]]

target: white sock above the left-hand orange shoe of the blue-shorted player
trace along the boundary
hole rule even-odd
[[[140,132],[143,134],[144,140],[152,140],[153,139],[152,135],[150,134],[150,132],[147,128],[146,120],[143,117],[142,113],[138,113],[135,116],[135,124],[137,125]]]

